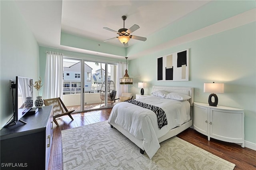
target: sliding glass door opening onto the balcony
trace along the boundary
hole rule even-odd
[[[63,102],[68,110],[84,112],[113,106],[116,64],[65,57],[63,66]]]

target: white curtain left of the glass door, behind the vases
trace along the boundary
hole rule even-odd
[[[46,52],[46,69],[44,75],[43,99],[62,99],[62,74],[63,74],[63,54],[58,52]]]

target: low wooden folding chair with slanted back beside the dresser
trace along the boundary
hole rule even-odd
[[[53,106],[53,121],[57,126],[59,126],[59,124],[56,121],[56,118],[60,116],[68,115],[72,120],[74,120],[71,116],[71,113],[75,110],[68,111],[68,109],[66,108],[66,106],[60,98],[44,99],[44,105]]]

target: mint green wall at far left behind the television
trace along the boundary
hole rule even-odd
[[[1,0],[0,8],[0,127],[2,128],[13,115],[9,80],[15,81],[16,76],[33,78],[34,81],[39,78],[39,46],[14,1]]]

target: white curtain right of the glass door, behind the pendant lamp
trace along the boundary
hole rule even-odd
[[[120,97],[122,93],[128,93],[129,92],[129,88],[127,84],[120,84],[120,78],[124,77],[125,74],[125,70],[126,70],[126,63],[125,62],[118,62],[117,63],[117,81],[118,85],[117,87],[117,94],[116,97]],[[129,74],[129,73],[128,73]]]

